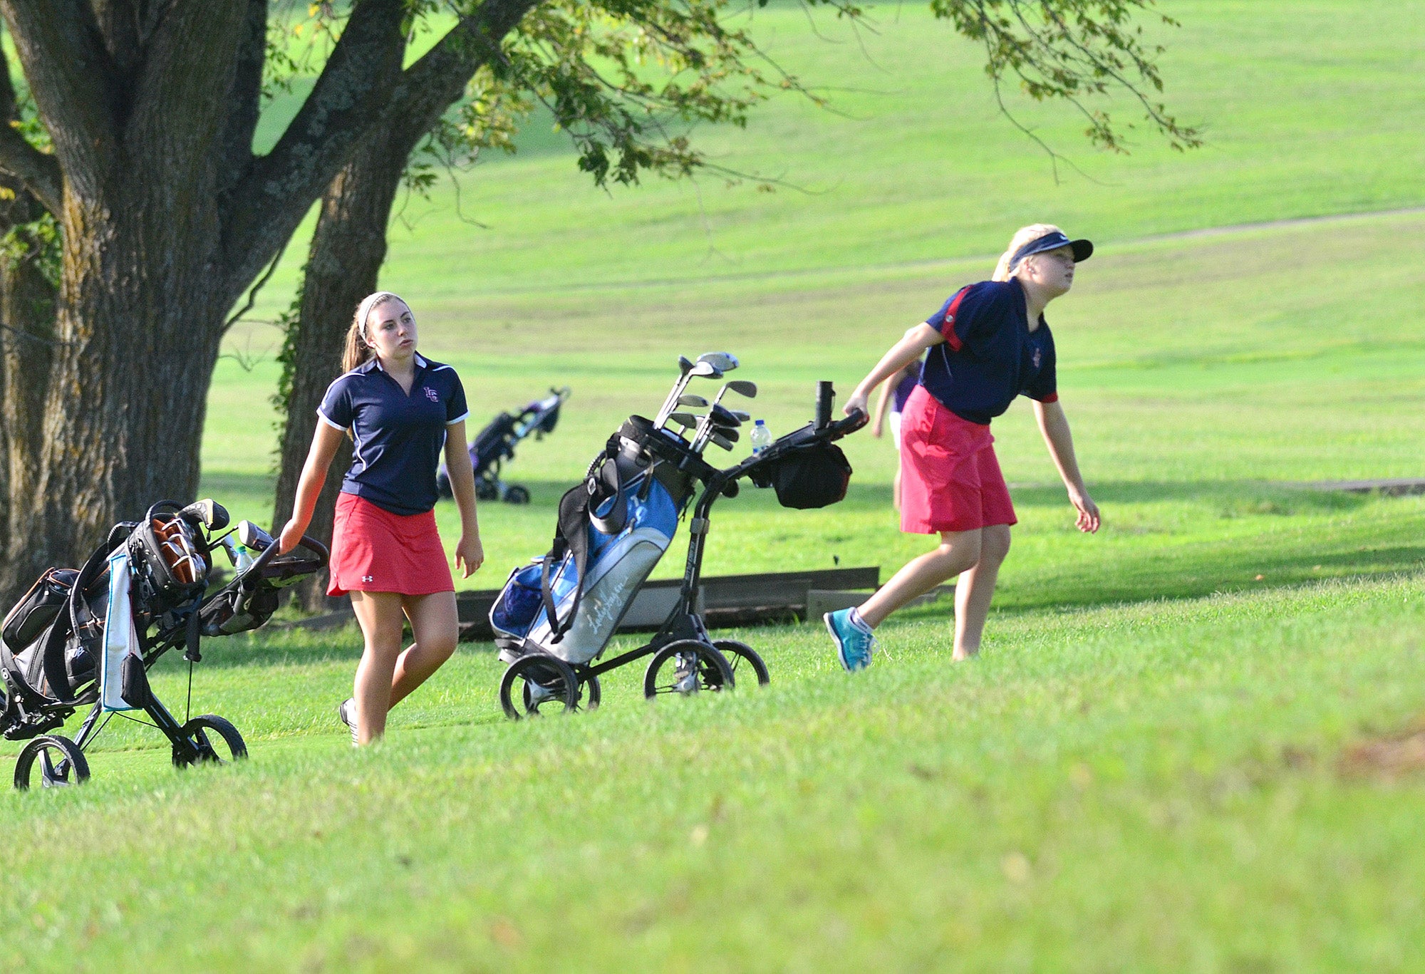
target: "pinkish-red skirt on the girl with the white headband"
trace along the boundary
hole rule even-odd
[[[436,513],[392,514],[356,494],[336,500],[328,595],[453,592]]]

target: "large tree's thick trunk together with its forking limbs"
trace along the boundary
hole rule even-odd
[[[0,375],[24,379],[4,382],[7,404],[44,403],[38,424],[6,426],[3,478],[16,431],[37,431],[38,463],[19,463],[33,488],[21,480],[6,493],[0,594],[74,564],[114,521],[194,497],[227,312],[379,120],[428,130],[533,4],[483,0],[403,71],[409,4],[352,0],[311,94],[256,157],[268,0],[0,0],[48,137],[41,151],[23,127],[0,124],[0,172],[63,236],[48,373],[31,375],[17,353],[20,372]],[[0,121],[13,108],[6,78]],[[405,152],[390,165],[395,185]]]

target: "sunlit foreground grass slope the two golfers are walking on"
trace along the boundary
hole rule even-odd
[[[311,726],[349,655],[231,641],[205,681],[254,760],[103,750],[88,787],[9,799],[0,955],[1414,970],[1425,793],[1338,756],[1418,713],[1422,594],[1415,572],[1016,614],[968,666],[902,621],[856,681],[814,629],[762,631],[764,692],[648,708],[624,675],[594,715],[519,725],[466,651],[368,753]]]

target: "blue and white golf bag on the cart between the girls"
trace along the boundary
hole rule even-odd
[[[490,608],[502,658],[542,649],[571,664],[603,652],[673,543],[695,480],[685,444],[633,416],[559,503],[549,554],[516,568]]]

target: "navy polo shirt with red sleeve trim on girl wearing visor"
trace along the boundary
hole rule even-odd
[[[1025,289],[1013,278],[960,288],[925,323],[945,342],[926,356],[921,384],[960,419],[988,424],[1020,393],[1059,399],[1054,336],[1043,315],[1029,330]]]

